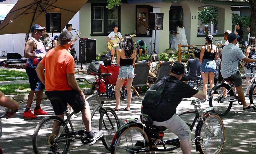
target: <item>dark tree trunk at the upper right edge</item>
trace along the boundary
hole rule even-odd
[[[256,36],[256,0],[249,0],[251,3],[251,34],[250,36]]]

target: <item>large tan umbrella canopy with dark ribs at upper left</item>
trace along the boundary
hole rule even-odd
[[[45,13],[61,13],[61,28],[88,0],[19,0],[0,25],[1,34],[29,33],[33,24],[45,27]]]

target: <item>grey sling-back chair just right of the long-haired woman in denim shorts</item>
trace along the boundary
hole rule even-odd
[[[134,74],[136,74],[136,76],[133,79],[131,89],[133,89],[133,92],[139,97],[139,93],[134,87],[147,86],[148,88],[150,88],[150,85],[148,85],[147,83],[149,77],[150,62],[136,63],[134,64],[133,68]]]

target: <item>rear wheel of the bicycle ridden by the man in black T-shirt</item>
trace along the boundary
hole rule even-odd
[[[145,142],[149,143],[149,137],[145,134],[143,135],[143,129],[138,126],[126,127],[122,134],[116,139],[116,145],[112,149],[111,153],[149,153],[149,152],[134,152],[135,149],[140,149],[141,151],[149,150],[149,147],[143,147],[144,138]],[[139,144],[141,143],[141,144]]]

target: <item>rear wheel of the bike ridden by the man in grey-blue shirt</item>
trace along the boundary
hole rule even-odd
[[[234,100],[234,99],[220,101],[221,98],[223,97],[231,97],[235,95],[233,90],[232,89],[230,90],[230,89],[231,87],[229,85],[220,83],[215,85],[210,91],[209,96],[211,95],[212,91],[218,91],[218,95],[214,95],[209,99],[210,107],[213,107],[214,112],[217,113],[218,115],[226,115],[232,107],[233,101],[230,101],[230,100]],[[227,93],[227,91],[229,91],[229,93]]]

